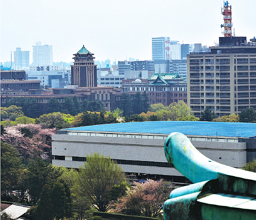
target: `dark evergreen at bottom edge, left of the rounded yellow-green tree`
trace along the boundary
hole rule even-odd
[[[39,220],[64,220],[72,216],[72,201],[69,186],[61,181],[43,186],[38,202]]]

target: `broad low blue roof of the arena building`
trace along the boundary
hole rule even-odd
[[[256,123],[200,122],[200,121],[149,121],[115,124],[99,124],[62,129],[65,131],[106,131],[126,133],[224,136],[256,138]]]

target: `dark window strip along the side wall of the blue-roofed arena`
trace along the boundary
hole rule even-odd
[[[55,160],[65,160],[65,156],[54,156]],[[73,161],[86,161],[86,157],[72,157]],[[130,164],[130,165],[141,165],[141,166],[154,166],[154,167],[172,167],[166,162],[153,162],[153,161],[141,161],[141,160],[118,160],[111,159],[116,164]]]

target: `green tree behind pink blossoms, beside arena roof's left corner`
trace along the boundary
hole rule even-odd
[[[59,130],[69,127],[69,123],[65,121],[65,117],[67,116],[68,115],[60,112],[44,114],[36,119],[36,123],[45,125],[47,128],[56,128],[57,130]]]

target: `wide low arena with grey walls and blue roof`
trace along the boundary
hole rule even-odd
[[[255,123],[152,121],[59,130],[52,135],[53,164],[79,168],[87,155],[99,153],[135,179],[186,183],[164,156],[164,142],[172,132],[185,134],[203,155],[221,164],[242,168],[256,159]]]

